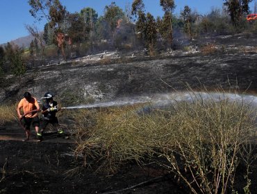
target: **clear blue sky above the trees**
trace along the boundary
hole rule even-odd
[[[116,5],[125,10],[128,3],[133,0],[60,0],[69,12],[80,12],[83,8],[93,8],[98,15],[103,15],[105,6],[115,1]],[[154,17],[163,16],[160,7],[160,0],[143,0],[146,12],[150,12]],[[191,10],[197,10],[204,15],[210,12],[211,8],[222,8],[224,0],[175,0],[176,9],[174,14],[179,15],[184,6],[189,6]],[[254,6],[250,4],[250,9]],[[36,21],[29,13],[30,6],[28,0],[0,0],[0,44],[10,42],[19,37],[29,35],[25,25],[37,26],[39,30],[44,29],[46,21]]]

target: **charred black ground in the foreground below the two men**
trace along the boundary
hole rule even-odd
[[[152,162],[124,164],[113,175],[79,168],[83,159],[74,157],[74,146],[58,141],[0,141],[0,193],[190,193],[174,175]],[[252,165],[250,189],[255,191],[257,163]],[[235,188],[243,193],[245,166],[237,170]]]

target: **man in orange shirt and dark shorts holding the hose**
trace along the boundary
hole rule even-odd
[[[24,114],[22,115],[20,110],[23,109]],[[38,118],[38,112],[40,111],[40,105],[38,105],[38,101],[36,98],[32,97],[31,94],[26,91],[24,93],[24,98],[19,101],[19,105],[17,107],[17,113],[19,119],[24,126],[24,130],[26,131],[26,139],[23,141],[28,141],[30,137],[30,127],[33,125],[35,127],[35,131],[37,132],[38,139],[41,139],[42,134],[39,132],[40,121]]]

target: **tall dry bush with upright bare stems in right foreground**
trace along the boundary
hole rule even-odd
[[[244,102],[229,98],[177,104],[174,139],[163,147],[169,168],[191,188],[192,193],[226,193],[233,190],[235,169],[242,146],[256,130],[253,112]],[[181,165],[182,164],[182,165]],[[190,175],[188,177],[188,175]]]

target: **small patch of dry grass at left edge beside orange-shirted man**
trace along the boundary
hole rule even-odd
[[[0,125],[6,122],[15,121],[17,119],[16,105],[0,106]]]

